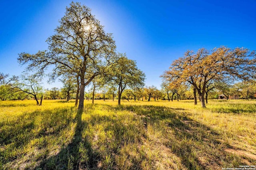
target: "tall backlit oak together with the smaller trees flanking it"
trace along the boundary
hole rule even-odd
[[[106,82],[117,87],[118,104],[125,88],[144,86],[145,74],[138,69],[135,61],[116,52],[112,34],[105,33],[90,8],[72,2],[59,22],[55,34],[47,39],[48,50],[36,54],[19,54],[18,62],[26,65],[27,72],[34,74],[21,77],[20,80],[16,78],[13,83],[9,83],[14,92],[30,94],[38,105],[42,104],[40,79],[49,66],[53,66],[52,72],[48,74],[49,81],[62,77],[67,95],[71,92],[68,81],[76,82],[75,105],[79,99],[80,113],[84,109],[85,87],[90,83],[95,83],[94,89],[96,84],[100,86]],[[4,79],[5,75],[1,83]],[[40,103],[38,98],[41,98]]]

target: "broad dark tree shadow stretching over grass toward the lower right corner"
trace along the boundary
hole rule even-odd
[[[188,169],[215,169],[223,166],[245,164],[243,158],[224,151],[233,148],[222,136],[207,125],[190,119],[189,111],[183,108],[160,106],[116,106],[115,109],[129,110],[136,115],[148,117],[147,124],[166,126],[166,147],[176,154]],[[254,163],[254,160],[249,162]]]

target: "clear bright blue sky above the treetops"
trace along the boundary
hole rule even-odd
[[[0,72],[20,75],[18,53],[47,49],[70,0],[0,1]],[[220,45],[256,50],[256,0],[80,0],[113,33],[117,50],[136,60],[146,85],[188,50]],[[62,86],[44,83],[46,88]]]

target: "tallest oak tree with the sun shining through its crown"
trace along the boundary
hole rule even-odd
[[[115,42],[91,14],[90,8],[80,3],[72,2],[59,22],[55,34],[47,40],[48,51],[34,55],[21,53],[18,61],[28,63],[28,70],[41,73],[48,65],[54,65],[52,77],[62,74],[62,70],[77,74],[80,79],[78,110],[82,113],[84,88],[113,63]]]

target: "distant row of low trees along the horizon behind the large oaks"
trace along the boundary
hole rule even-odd
[[[24,100],[24,99],[36,99],[36,95],[40,94],[43,99],[66,99],[69,101],[70,99],[76,98],[76,81],[75,78],[71,79],[61,79],[63,86],[62,88],[51,88],[43,89],[40,86],[40,82],[36,81],[36,84],[33,84],[31,88],[22,88],[22,86],[28,87],[28,81],[26,85],[23,82],[18,82],[17,77],[13,76],[8,78],[8,74],[0,73],[1,85],[0,85],[0,100]],[[26,80],[25,76],[22,76]],[[30,77],[31,78],[31,77]],[[13,80],[16,80],[16,83],[10,83]],[[104,81],[105,80],[105,81]],[[84,92],[84,99],[92,100],[94,103],[94,99],[111,99],[114,101],[118,97],[118,86],[113,81],[107,82],[106,77],[102,79],[100,76],[93,79],[89,84],[89,88]],[[31,80],[30,80],[31,81]],[[14,88],[18,86],[19,88]],[[155,86],[145,86],[143,88],[126,88],[122,92],[121,99],[122,100],[142,100],[142,101],[150,101],[151,99],[156,100],[183,100],[183,99],[193,99],[194,98],[194,88],[189,84],[180,84],[174,88],[171,86],[170,82],[167,81],[162,82],[162,88],[158,90]],[[21,89],[21,90],[20,90]],[[33,91],[34,89],[34,91]],[[26,90],[26,92],[24,92]],[[30,93],[34,93],[35,96]],[[227,84],[225,82],[211,82],[206,86],[206,94],[205,100],[206,104],[208,103],[208,98],[210,99],[218,99],[221,96],[228,99],[255,99],[256,98],[256,82],[255,81],[242,81],[234,84]],[[42,99],[38,95],[38,99]],[[200,100],[198,94],[195,95],[196,98]],[[42,104],[42,102],[40,102]],[[38,102],[38,104],[40,105]]]

